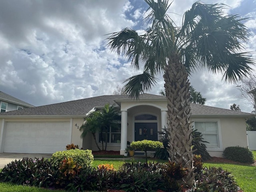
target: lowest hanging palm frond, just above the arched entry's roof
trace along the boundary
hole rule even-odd
[[[145,90],[151,90],[152,86],[156,84],[156,80],[157,78],[151,74],[143,72],[142,74],[132,76],[125,80],[124,82],[128,83],[124,86],[124,90],[131,98],[138,100],[141,93],[144,93]]]

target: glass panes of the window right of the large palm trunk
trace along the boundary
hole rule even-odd
[[[207,148],[220,148],[218,122],[195,122],[195,129],[202,133]]]

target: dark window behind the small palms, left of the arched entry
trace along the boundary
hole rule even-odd
[[[107,130],[108,143],[120,143],[121,141],[121,124],[116,124],[114,127],[110,127]],[[99,142],[106,140],[106,131],[102,132],[102,136],[99,133]]]

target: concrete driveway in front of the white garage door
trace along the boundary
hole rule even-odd
[[[28,158],[51,158],[52,154],[40,154],[40,153],[0,153],[0,168],[4,168],[4,166],[15,159],[22,159],[23,157]]]

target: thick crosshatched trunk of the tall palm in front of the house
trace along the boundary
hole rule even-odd
[[[190,94],[188,73],[180,57],[175,54],[166,65],[164,72],[164,88],[166,90],[168,108],[168,135],[170,160],[181,163],[188,168],[188,175],[184,178],[189,186],[194,182],[191,132],[189,118]]]

